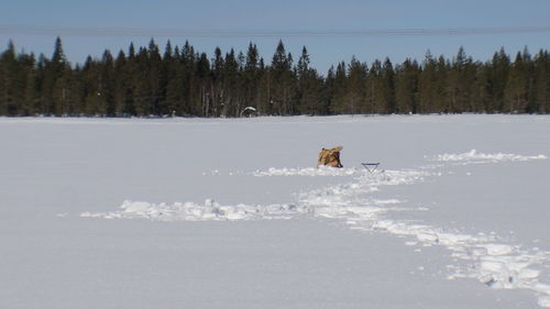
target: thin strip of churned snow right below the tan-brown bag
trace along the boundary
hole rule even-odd
[[[306,168],[275,168],[271,167],[267,170],[255,170],[253,176],[354,176],[362,175],[365,170],[355,168],[336,168],[330,166],[306,167]]]

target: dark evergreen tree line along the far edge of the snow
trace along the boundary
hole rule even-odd
[[[298,60],[279,41],[271,62],[256,45],[213,56],[188,42],[164,51],[151,40],[139,49],[80,65],[67,60],[59,37],[51,58],[18,53],[10,41],[0,55],[0,115],[242,117],[256,114],[549,113],[550,56],[527,48],[514,59],[504,48],[487,62],[462,47],[451,59],[428,52],[418,63],[371,65],[353,57],[326,75]]]

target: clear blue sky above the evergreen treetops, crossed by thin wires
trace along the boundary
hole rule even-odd
[[[18,51],[53,53],[54,33],[21,34],[8,26],[65,29],[138,29],[162,33],[177,31],[359,31],[388,29],[482,29],[516,26],[550,26],[548,0],[377,0],[377,1],[175,1],[121,0],[31,1],[0,0],[0,44],[6,49],[13,40]],[[3,29],[2,29],[3,26]],[[48,32],[48,31],[46,31]],[[185,37],[155,36],[162,49],[167,40],[183,45]],[[531,53],[550,49],[550,32],[483,35],[381,35],[381,36],[298,36],[298,37],[189,37],[189,43],[211,57],[216,46],[227,52],[245,51],[255,43],[261,56],[271,62],[278,40],[297,59],[307,46],[311,64],[326,74],[330,65],[349,62],[355,56],[371,64],[386,56],[394,63],[405,58],[424,59],[428,49],[433,55],[452,57],[460,46],[474,59],[490,59],[504,46],[515,54],[527,46]],[[62,35],[65,54],[72,63],[82,63],[87,55],[101,57],[106,48],[112,53],[128,51],[133,42],[146,45],[150,36],[131,35]]]

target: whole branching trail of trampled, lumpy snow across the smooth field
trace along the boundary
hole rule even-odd
[[[362,232],[384,232],[406,238],[406,245],[443,246],[451,251],[454,264],[448,265],[448,278],[475,278],[491,288],[528,289],[536,293],[538,305],[550,308],[550,285],[539,282],[542,269],[550,266],[550,252],[512,243],[496,233],[463,233],[444,227],[395,219],[392,213],[429,211],[427,207],[410,207],[406,200],[375,199],[373,192],[385,186],[402,186],[444,177],[447,165],[470,165],[546,159],[544,155],[483,154],[470,151],[427,157],[424,166],[404,170],[371,174],[356,168],[270,168],[250,173],[251,177],[268,176],[354,176],[352,183],[298,194],[295,203],[224,206],[215,200],[205,203],[150,203],[124,201],[120,210],[82,212],[81,217],[106,219],[179,220],[266,220],[290,219],[296,216],[340,220]],[[211,174],[216,174],[213,172]]]

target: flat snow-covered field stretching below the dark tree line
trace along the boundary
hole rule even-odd
[[[0,308],[550,308],[548,141],[543,115],[0,119]]]

